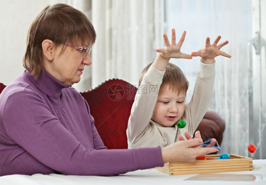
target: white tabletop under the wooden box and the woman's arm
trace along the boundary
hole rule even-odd
[[[191,184],[191,185],[207,185],[207,184],[266,184],[266,159],[253,160],[253,171],[238,171],[238,172],[224,172],[224,173],[214,173],[210,175],[217,175],[215,179],[219,179],[221,174],[229,174],[228,177],[232,178],[232,175],[236,178],[240,174],[245,176],[254,175],[256,177],[255,181],[234,181],[226,180],[186,180],[191,177],[195,177],[197,174],[190,175],[167,175],[155,169],[148,170],[138,170],[133,172],[128,172],[124,175],[112,176],[112,177],[101,177],[101,176],[77,176],[77,175],[6,175],[0,177],[1,185],[88,185],[88,184]],[[246,174],[246,175],[245,175]],[[206,174],[205,174],[206,175]],[[213,177],[212,177],[213,178]],[[245,178],[243,178],[245,179]]]

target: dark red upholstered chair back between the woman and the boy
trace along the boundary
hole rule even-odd
[[[136,87],[118,79],[105,81],[93,90],[81,92],[108,149],[127,148],[127,122],[136,92]]]

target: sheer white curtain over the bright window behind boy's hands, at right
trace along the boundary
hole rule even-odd
[[[263,133],[265,134],[263,126],[265,119],[259,123],[249,121],[251,114],[247,46],[254,37],[252,24],[258,19],[252,19],[254,17],[252,10],[257,8],[258,3],[253,1],[252,9],[251,0],[166,0],[165,2],[166,9],[169,10],[166,14],[168,32],[171,28],[175,28],[179,37],[183,30],[187,31],[183,52],[197,51],[204,45],[207,36],[211,42],[218,35],[221,35],[221,41],[229,41],[222,51],[232,55],[232,58],[221,56],[216,58],[215,94],[210,105],[210,108],[220,113],[226,123],[221,152],[266,158],[265,141],[262,138]],[[186,99],[190,101],[199,58],[173,59],[171,62],[177,64],[190,81]],[[264,69],[264,73],[265,71]],[[255,125],[259,125],[256,126],[258,130],[251,133],[250,127]],[[247,150],[251,143],[258,147],[255,154],[250,154]]]

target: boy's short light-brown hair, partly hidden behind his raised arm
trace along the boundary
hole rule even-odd
[[[139,77],[139,85],[142,82],[144,74],[148,71],[151,67],[152,63],[148,64],[146,68],[142,70]],[[165,68],[165,74],[162,79],[161,87],[168,85],[172,91],[178,92],[185,92],[187,94],[187,89],[189,86],[189,82],[181,71],[181,69],[173,63],[168,63]]]

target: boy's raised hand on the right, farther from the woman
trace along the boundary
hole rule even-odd
[[[231,58],[231,55],[228,55],[224,51],[220,51],[220,49],[223,46],[225,46],[226,44],[228,44],[228,41],[227,40],[218,44],[218,42],[219,42],[220,39],[221,39],[221,36],[219,35],[214,40],[214,42],[211,44],[210,43],[210,38],[207,37],[206,38],[205,46],[202,47],[202,48],[200,48],[196,52],[192,52],[191,55],[192,56],[200,56],[201,57],[201,61],[204,64],[212,64],[212,63],[214,63],[214,58],[217,57],[217,56],[219,56],[219,55],[222,55],[222,56]]]

